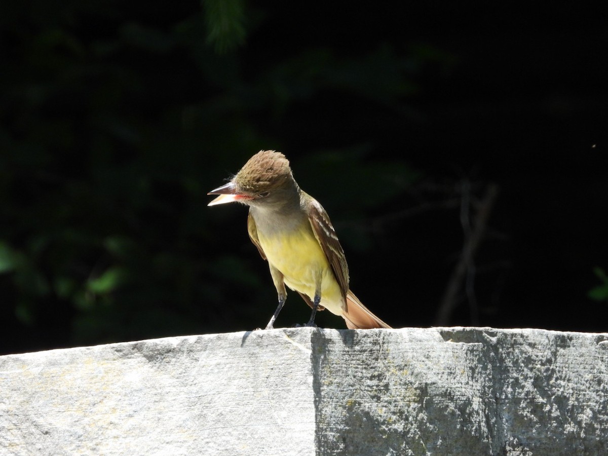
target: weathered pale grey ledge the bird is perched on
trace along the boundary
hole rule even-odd
[[[608,334],[289,328],[0,356],[0,454],[608,454]]]

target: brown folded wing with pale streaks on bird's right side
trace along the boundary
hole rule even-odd
[[[331,270],[334,272],[334,276],[342,290],[342,295],[346,296],[348,292],[348,265],[346,264],[344,250],[342,250],[340,241],[338,241],[336,230],[331,225],[330,216],[327,215],[323,206],[314,198],[309,199],[307,209],[308,220],[313,227],[314,237],[319,241],[330,263]]]

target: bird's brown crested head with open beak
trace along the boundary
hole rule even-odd
[[[270,207],[285,202],[298,190],[285,155],[263,150],[251,157],[227,184],[209,192],[207,195],[219,196],[207,206],[237,201]]]

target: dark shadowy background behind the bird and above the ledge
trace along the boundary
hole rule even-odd
[[[2,2],[0,352],[263,327],[261,149],[392,326],[606,331],[607,9]]]

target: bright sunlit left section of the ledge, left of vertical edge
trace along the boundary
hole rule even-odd
[[[0,357],[0,454],[311,454],[309,340],[275,330]]]

